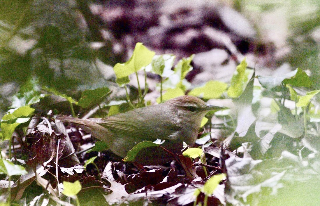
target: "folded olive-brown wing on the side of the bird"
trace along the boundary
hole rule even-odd
[[[160,110],[154,111],[152,115],[146,115],[145,111],[140,110],[128,113],[131,111],[95,120],[95,122],[113,133],[150,141],[165,139],[179,129],[173,126],[170,118],[157,118],[163,115]],[[132,118],[129,119],[128,115]]]

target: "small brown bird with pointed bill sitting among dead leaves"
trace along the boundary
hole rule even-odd
[[[142,141],[165,140],[164,148],[180,153],[183,142],[193,145],[201,120],[210,110],[224,107],[206,104],[193,96],[180,96],[162,104],[130,110],[106,118],[79,119],[58,116],[56,119],[79,125],[93,137],[106,142],[109,149],[125,157],[135,144]],[[142,149],[136,161],[143,165],[170,161],[172,156],[159,147]]]

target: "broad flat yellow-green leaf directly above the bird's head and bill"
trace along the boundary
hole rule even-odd
[[[219,81],[208,81],[203,87],[191,90],[188,95],[204,99],[217,99],[226,91],[228,84]]]

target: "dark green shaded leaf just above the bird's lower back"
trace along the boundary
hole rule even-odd
[[[87,108],[94,104],[98,104],[109,91],[110,89],[108,87],[97,88],[95,90],[84,90],[81,94],[78,105],[82,108]]]

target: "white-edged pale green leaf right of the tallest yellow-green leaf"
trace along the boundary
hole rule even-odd
[[[169,77],[174,71],[171,70],[176,56],[172,54],[155,55],[151,64],[146,66],[146,72],[152,72],[161,77]]]

